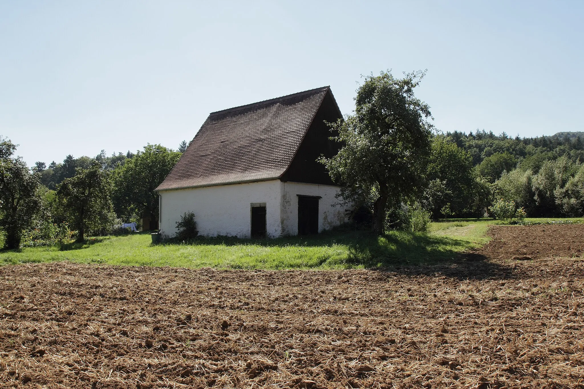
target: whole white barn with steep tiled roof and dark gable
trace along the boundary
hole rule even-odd
[[[159,185],[159,228],[192,211],[199,233],[279,237],[346,220],[339,187],[317,162],[338,152],[325,122],[342,118],[330,87],[211,113]]]

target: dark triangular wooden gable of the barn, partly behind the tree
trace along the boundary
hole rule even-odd
[[[339,118],[342,118],[342,114],[329,89],[294,159],[280,177],[281,181],[335,185],[324,165],[317,159],[321,155],[330,158],[338,153],[339,145],[329,139],[333,134],[325,122],[336,122]]]

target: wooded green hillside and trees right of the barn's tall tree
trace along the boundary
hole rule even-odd
[[[481,216],[505,199],[530,217],[582,216],[584,141],[573,135],[437,135],[427,171],[427,209],[434,218]]]

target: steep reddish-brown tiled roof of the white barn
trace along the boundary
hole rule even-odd
[[[211,113],[157,190],[279,178],[329,87]]]

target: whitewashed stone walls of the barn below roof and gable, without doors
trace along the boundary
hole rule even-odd
[[[199,234],[247,238],[251,234],[251,204],[266,204],[266,232],[270,238],[298,234],[298,196],[321,196],[318,231],[345,222],[345,207],[331,206],[339,188],[331,185],[283,183],[280,180],[249,184],[161,191],[160,229],[176,234],[176,222],[192,211]]]

